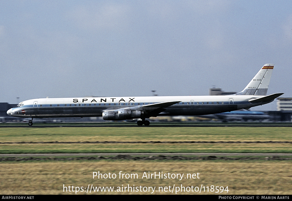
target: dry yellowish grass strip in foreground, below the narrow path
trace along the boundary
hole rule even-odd
[[[93,179],[93,172],[116,174],[115,179]],[[124,178],[119,179],[119,172]],[[164,174],[184,174],[183,179],[142,178],[156,172]],[[197,174],[199,173],[199,174]],[[129,177],[126,174],[137,174]],[[162,174],[162,173],[161,173]],[[185,179],[186,174],[196,174],[195,179]],[[197,178],[199,177],[199,179]],[[246,195],[246,194],[290,194],[292,193],[291,162],[213,162],[213,161],[81,161],[81,162],[6,162],[0,163],[0,194],[151,194],[148,187],[155,187],[153,194],[215,194],[215,195]],[[74,191],[69,188],[74,186]],[[90,192],[88,185],[93,187],[114,187],[112,192]],[[117,192],[119,187],[147,187],[133,192],[124,190]],[[170,186],[170,187],[169,187]],[[174,188],[173,188],[174,186]],[[193,186],[193,188],[191,188]],[[205,186],[205,192],[198,191]],[[211,192],[211,186],[222,186],[222,193]],[[83,189],[81,189],[83,187]],[[159,189],[160,187],[160,189]],[[166,188],[165,188],[166,187]],[[185,187],[182,189],[181,187]],[[188,187],[188,188],[187,188]],[[197,188],[195,188],[197,187]],[[207,191],[209,187],[209,192]],[[214,187],[214,188],[215,188]],[[221,188],[221,189],[222,189]],[[144,192],[143,190],[146,190]],[[162,191],[163,190],[163,191]],[[173,190],[173,192],[172,192]],[[183,190],[181,192],[181,190]],[[184,191],[185,190],[185,191]],[[193,190],[193,191],[192,191]],[[162,192],[161,192],[162,191]],[[175,192],[177,191],[177,192]],[[189,192],[187,192],[189,191]]]

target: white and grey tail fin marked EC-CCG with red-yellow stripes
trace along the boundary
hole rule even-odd
[[[274,64],[265,64],[243,91],[235,95],[266,96]]]

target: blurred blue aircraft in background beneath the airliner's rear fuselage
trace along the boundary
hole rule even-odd
[[[203,115],[200,117],[211,118],[211,119],[221,119],[223,122],[228,121],[262,121],[264,119],[269,119],[270,115],[265,115],[264,112],[259,111],[231,111],[223,112],[213,115]]]

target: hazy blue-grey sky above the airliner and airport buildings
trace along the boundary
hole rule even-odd
[[[292,1],[0,1],[0,102],[242,91],[292,97]],[[17,98],[19,97],[19,98]],[[276,110],[276,101],[253,110]]]

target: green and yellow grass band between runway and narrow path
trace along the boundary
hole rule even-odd
[[[0,153],[292,153],[291,131],[290,127],[1,128]],[[97,141],[141,143],[92,143]],[[190,141],[237,143],[186,143]]]

